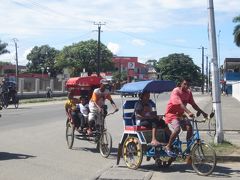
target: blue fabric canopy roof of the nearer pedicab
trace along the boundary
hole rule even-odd
[[[176,87],[175,82],[166,80],[138,81],[124,84],[118,91],[120,93],[163,93],[172,91]]]

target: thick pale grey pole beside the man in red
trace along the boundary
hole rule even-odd
[[[216,135],[214,138],[215,143],[222,143],[224,141],[223,126],[222,126],[222,107],[221,107],[221,94],[220,94],[220,80],[217,56],[217,43],[216,43],[216,29],[214,18],[213,0],[209,0],[209,34],[210,45],[212,50],[212,97],[213,109],[215,110],[216,119]]]

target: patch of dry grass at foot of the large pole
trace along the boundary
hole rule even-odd
[[[211,143],[211,146],[217,155],[240,154],[240,147],[226,140],[219,144]]]

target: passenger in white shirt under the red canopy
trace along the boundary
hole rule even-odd
[[[86,96],[80,96],[79,104],[77,104],[77,109],[79,109],[78,117],[81,119],[80,128],[81,130],[87,130],[88,128],[88,114],[89,114],[89,104]]]

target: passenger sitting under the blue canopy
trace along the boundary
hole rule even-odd
[[[139,101],[136,102],[134,107],[136,124],[152,128],[152,140],[151,144],[156,146],[160,142],[156,138],[157,129],[164,129],[166,135],[170,137],[171,131],[168,125],[162,119],[162,116],[157,115],[156,111],[152,110],[152,105],[149,101],[150,93],[144,92],[139,94]]]

